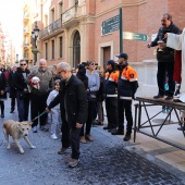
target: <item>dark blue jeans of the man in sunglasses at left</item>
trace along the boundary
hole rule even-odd
[[[20,91],[16,92],[17,108],[18,108],[18,121],[28,121],[28,110],[29,110],[29,94],[22,99],[20,98]]]

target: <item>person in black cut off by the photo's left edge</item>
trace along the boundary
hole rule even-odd
[[[1,107],[1,118],[4,118],[4,100],[7,99],[7,79],[4,73],[0,72],[0,107]]]

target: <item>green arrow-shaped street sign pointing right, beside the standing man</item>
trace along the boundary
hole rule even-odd
[[[147,41],[149,37],[145,34],[123,32],[123,39]]]

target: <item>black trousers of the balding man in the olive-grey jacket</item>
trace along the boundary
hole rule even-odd
[[[30,119],[32,120],[38,116],[39,114],[41,114],[46,110],[47,98],[48,98],[48,94],[30,95]],[[38,120],[40,121],[40,126],[46,125],[47,116],[48,114],[44,114],[39,119],[36,119],[32,127],[38,125]]]

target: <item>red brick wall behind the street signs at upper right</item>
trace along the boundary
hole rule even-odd
[[[138,0],[132,0],[132,3]],[[130,55],[131,62],[141,62],[143,60],[156,59],[153,49],[148,49],[146,45],[150,42],[151,35],[157,34],[161,26],[163,13],[171,13],[174,24],[183,28],[185,26],[185,3],[184,0],[147,0],[146,3],[128,5],[128,0],[99,0],[96,1],[96,24],[95,24],[95,60],[98,60],[98,45],[113,41],[114,54],[120,52],[119,30],[107,36],[101,36],[101,23],[119,14],[119,5],[123,5],[123,30],[140,33],[149,36],[148,41],[123,40],[123,50]],[[116,10],[113,8],[116,7]],[[108,10],[112,10],[111,12]],[[103,14],[103,12],[108,13]]]

